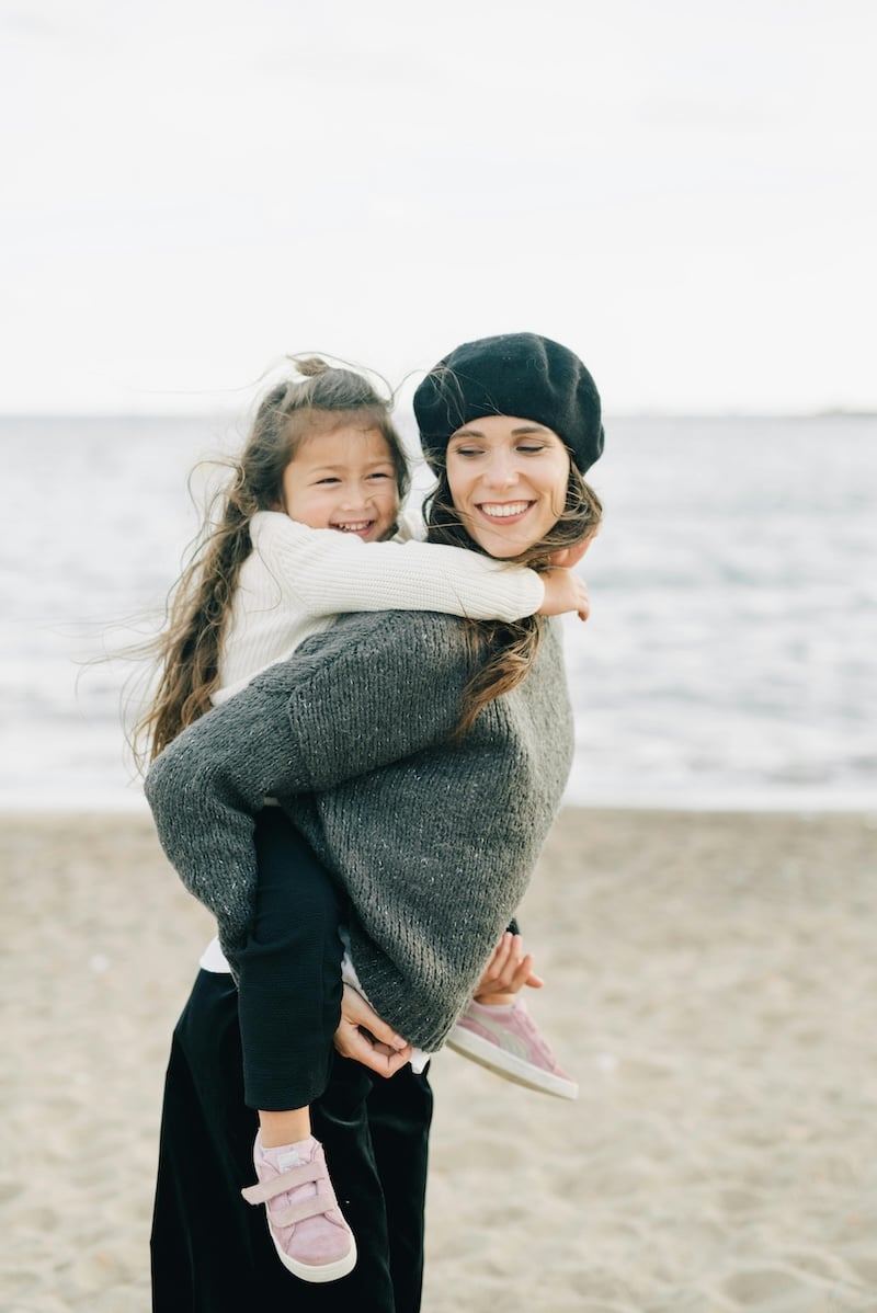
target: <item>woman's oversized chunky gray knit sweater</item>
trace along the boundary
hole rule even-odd
[[[471,672],[453,616],[348,616],[184,730],[146,780],[232,968],[253,919],[253,817],[278,798],[349,894],[373,1007],[427,1050],[520,903],[572,758],[555,621],[519,688],[452,743]]]

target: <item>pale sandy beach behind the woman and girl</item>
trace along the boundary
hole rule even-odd
[[[207,914],[147,817],[0,817],[3,1313],[147,1313]],[[877,814],[566,810],[521,923],[575,1103],[433,1064],[424,1313],[877,1310]]]

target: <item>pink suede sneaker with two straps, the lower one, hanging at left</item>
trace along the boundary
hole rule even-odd
[[[242,1190],[248,1204],[265,1204],[268,1230],[288,1271],[303,1281],[336,1281],[356,1264],[356,1241],[337,1207],[323,1145],[312,1137],[263,1149],[256,1136],[257,1186]]]

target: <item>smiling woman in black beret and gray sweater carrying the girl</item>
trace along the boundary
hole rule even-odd
[[[415,414],[438,477],[433,541],[537,567],[580,557],[599,523],[582,474],[603,427],[572,352],[533,334],[463,344],[420,385]],[[331,1287],[303,1287],[270,1262],[264,1222],[236,1199],[252,1115],[234,987],[198,977],[165,1090],[158,1313],[281,1292],[301,1309],[419,1308],[431,1096],[410,1067],[386,1083],[368,1067],[398,1066],[400,1035],[429,1050],[444,1041],[526,888],[571,752],[551,625],[393,612],[310,639],[156,759],[159,836],[231,952],[256,913],[253,817],[276,797],[343,888],[353,965],[389,1027],[349,999],[339,1044],[358,1061],[335,1062],[315,1134],[360,1260]]]

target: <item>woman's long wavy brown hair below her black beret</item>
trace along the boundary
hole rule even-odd
[[[470,551],[487,555],[461,523],[444,463],[435,462],[433,467],[438,483],[424,502],[428,541],[446,542],[454,548],[467,548]],[[546,570],[551,565],[551,553],[584,542],[597,532],[601,519],[600,498],[570,460],[566,500],[558,520],[540,542],[509,558],[509,565],[529,566],[536,571]],[[524,616],[523,620],[511,622],[466,620],[465,625],[470,653],[478,668],[463,693],[463,708],[456,730],[457,739],[471,729],[487,702],[502,697],[503,693],[511,693],[525,678],[542,639],[544,617]]]

